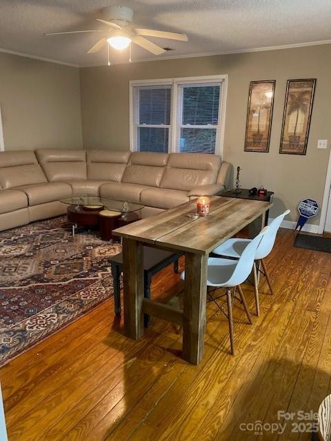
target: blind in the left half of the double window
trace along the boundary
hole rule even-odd
[[[132,88],[132,136],[138,152],[168,153],[171,85]]]

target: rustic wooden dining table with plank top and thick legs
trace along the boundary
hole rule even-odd
[[[123,306],[126,336],[144,334],[144,314],[183,326],[184,360],[199,364],[203,358],[207,262],[210,252],[249,225],[250,237],[265,224],[272,203],[212,196],[210,214],[197,219],[197,201],[183,203],[150,218],[115,229],[123,247]],[[170,307],[143,296],[143,246],[185,253],[183,308]]]

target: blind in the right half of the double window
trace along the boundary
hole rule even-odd
[[[221,83],[179,84],[177,96],[177,151],[217,152]]]

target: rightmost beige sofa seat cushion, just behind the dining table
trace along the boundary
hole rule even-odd
[[[188,192],[165,188],[148,188],[141,192],[141,203],[148,207],[172,208],[189,201]]]

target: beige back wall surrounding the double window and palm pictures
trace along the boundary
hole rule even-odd
[[[223,157],[242,167],[243,187],[276,193],[272,216],[288,207],[297,220],[301,198],[323,198],[329,149],[317,150],[317,139],[331,141],[330,72],[331,45],[83,68],[83,145],[128,150],[130,80],[228,74]],[[299,78],[317,78],[307,154],[279,154],[286,81]],[[243,152],[249,83],[265,79],[276,80],[270,152]]]

